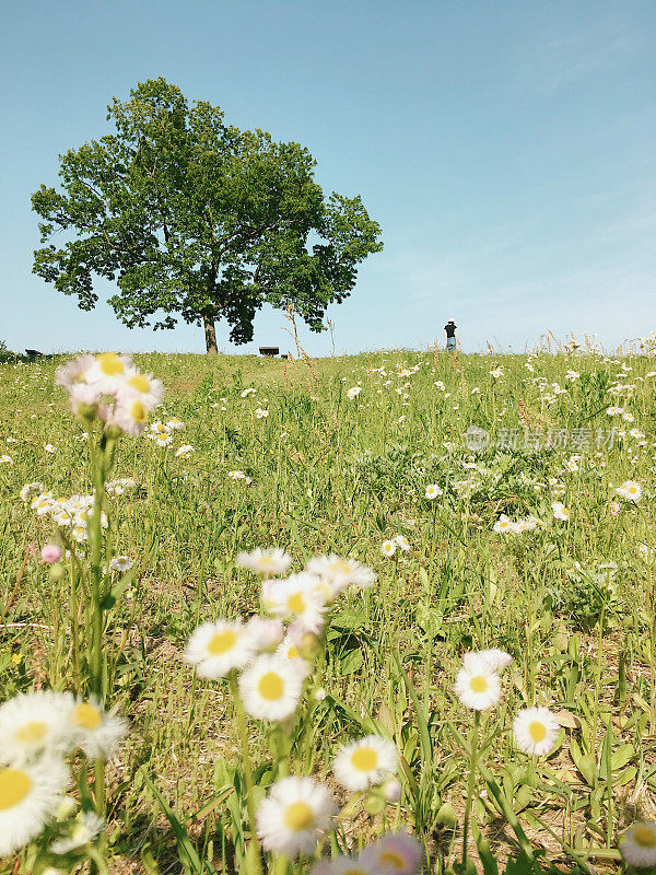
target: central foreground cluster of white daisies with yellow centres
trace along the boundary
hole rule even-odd
[[[291,557],[281,549],[256,549],[236,558],[238,567],[257,574],[261,604],[268,617],[237,617],[202,623],[191,635],[186,661],[206,678],[226,677],[238,711],[272,727],[272,750],[278,752],[278,780],[269,788],[251,829],[265,851],[286,858],[315,856],[326,835],[336,828],[338,804],[326,784],[311,777],[289,774],[289,739],[306,691],[309,707],[321,698],[311,684],[326,643],[330,606],[348,588],[371,587],[376,575],[356,560],[317,556],[303,571],[289,574]],[[308,715],[305,715],[305,721]],[[247,746],[246,738],[243,745]],[[249,770],[244,756],[244,769]],[[398,798],[394,775],[398,768],[395,745],[378,735],[367,735],[343,745],[332,762],[336,782],[352,793],[378,793],[386,801]],[[245,775],[246,786],[251,778]],[[376,872],[393,875],[419,871],[421,853],[407,833],[388,835],[362,851],[356,859],[338,856],[318,863],[313,873]]]

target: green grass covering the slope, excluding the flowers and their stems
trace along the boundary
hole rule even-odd
[[[244,819],[230,804],[238,762],[233,702],[223,681],[194,679],[181,653],[199,622],[258,610],[257,583],[234,558],[272,546],[292,555],[294,571],[335,552],[378,574],[373,590],[336,604],[320,681],[327,695],[308,725],[308,754],[293,763],[330,782],[344,740],[371,731],[395,739],[405,760],[401,803],[384,815],[356,807],[339,833],[344,841],[364,841],[383,820],[407,824],[435,872],[457,859],[469,763],[457,738],[468,737],[471,716],[453,682],[464,652],[502,648],[515,662],[501,702],[482,718],[483,768],[547,860],[565,872],[591,871],[588,858],[598,872],[619,871],[619,833],[656,810],[655,593],[652,564],[640,555],[641,545],[655,546],[656,377],[646,376],[654,360],[541,352],[529,371],[526,355],[405,351],[291,363],[134,359],[167,387],[156,416],[176,416],[185,429],[165,450],[122,438],[112,474],[137,487],[109,499],[113,548],[136,560],[131,591],[105,631],[110,698],[131,722],[108,767],[109,871],[145,872],[142,856],[152,855],[162,873],[179,872],[153,786],[188,821],[201,862],[222,872],[232,859]],[[81,682],[68,586],[37,561],[52,522],[19,497],[32,480],[56,495],[92,489],[89,445],[55,386],[61,361],[0,365],[0,455],[12,458],[0,463],[0,701],[35,685]],[[622,363],[632,369],[624,375]],[[494,365],[503,368],[499,380]],[[379,368],[384,374],[372,373]],[[569,382],[569,369],[579,377]],[[634,388],[614,396],[618,375]],[[540,376],[566,393],[547,402]],[[350,400],[347,389],[358,383],[362,392]],[[256,394],[242,398],[250,386]],[[609,405],[635,421],[611,420]],[[260,407],[268,417],[256,418]],[[464,442],[471,424],[492,435],[476,459]],[[495,445],[500,430],[525,424],[542,436],[611,424],[626,435],[599,451]],[[630,436],[633,428],[644,438]],[[181,444],[194,446],[189,459],[175,457]],[[570,472],[573,454],[582,458]],[[471,460],[477,468],[464,467]],[[643,495],[636,504],[618,499],[614,516],[614,487],[629,479]],[[467,482],[454,488],[459,481]],[[443,497],[427,501],[429,483]],[[570,509],[569,522],[552,518],[554,500]],[[540,523],[503,536],[492,528],[501,514]],[[387,559],[380,545],[397,535],[410,550]],[[617,568],[600,568],[609,563]],[[557,749],[537,761],[514,748],[509,733],[515,713],[534,703],[571,715]],[[262,730],[250,725],[255,759],[266,762]],[[473,818],[501,865],[514,833],[483,779]],[[262,785],[270,780],[265,769]]]

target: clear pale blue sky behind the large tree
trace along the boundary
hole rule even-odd
[[[32,275],[30,197],[106,105],[164,75],[226,122],[307,145],[385,249],[330,312],[337,352],[656,329],[654,0],[23,0],[1,4],[0,339],[12,349],[203,351],[129,330]],[[97,287],[102,294],[107,284]],[[262,312],[253,352],[290,347]],[[328,334],[304,332],[312,354]]]

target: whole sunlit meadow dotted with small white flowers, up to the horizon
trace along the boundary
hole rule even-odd
[[[93,696],[117,744],[72,745],[81,807],[0,871],[610,873],[620,847],[656,862],[655,352],[138,354],[162,404],[108,441],[56,385],[71,357],[1,364],[0,703]],[[52,502],[90,512],[94,487],[106,527],[93,514],[78,536]],[[282,578],[335,555],[353,580],[313,602],[297,708],[267,720],[190,639],[270,608],[276,584],[237,557],[272,548]],[[479,666],[481,704],[462,672],[488,651],[512,662]],[[513,730],[535,707],[543,752]],[[336,756],[371,736],[396,762],[349,788]],[[288,775],[339,808],[300,855],[254,841]],[[402,829],[423,863],[340,862]]]

